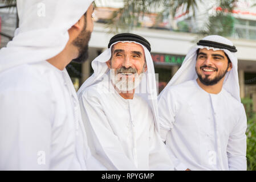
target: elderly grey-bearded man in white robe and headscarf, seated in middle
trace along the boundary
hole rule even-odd
[[[161,142],[147,40],[117,34],[78,91],[92,155],[109,170],[173,170]]]

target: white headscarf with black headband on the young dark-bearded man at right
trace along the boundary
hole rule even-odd
[[[240,98],[240,89],[239,89],[239,81],[238,81],[238,60],[235,56],[236,49],[233,43],[219,35],[209,35],[204,39],[200,40],[199,45],[190,49],[188,54],[186,55],[181,68],[178,69],[173,78],[166,85],[165,89],[162,90],[159,97],[162,93],[165,92],[166,88],[169,86],[174,86],[177,84],[181,84],[182,82],[195,80],[197,78],[196,73],[196,58],[197,58],[197,49],[207,48],[213,49],[214,51],[222,50],[224,51],[233,65],[233,68],[226,73],[223,88],[229,92],[236,100],[241,102]]]

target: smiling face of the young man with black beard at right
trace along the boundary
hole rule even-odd
[[[227,72],[232,68],[228,63],[224,51],[213,51],[212,49],[199,49],[196,72],[200,82],[204,85],[215,85],[223,81]]]

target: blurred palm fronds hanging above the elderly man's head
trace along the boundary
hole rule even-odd
[[[202,0],[124,0],[124,7],[113,13],[107,27],[115,33],[129,32],[147,13],[159,13],[157,22],[161,22],[164,17],[174,16],[176,10],[184,5],[186,11],[194,12],[200,1]]]

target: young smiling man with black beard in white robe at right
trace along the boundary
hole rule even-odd
[[[177,170],[246,170],[237,49],[207,36],[159,96],[161,137]]]

